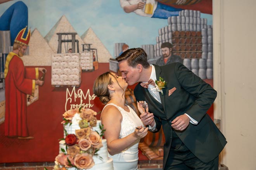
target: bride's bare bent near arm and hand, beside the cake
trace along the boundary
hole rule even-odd
[[[135,129],[135,131],[125,138],[119,139],[121,131],[122,115],[120,111],[112,106],[107,106],[101,113],[101,121],[106,129],[104,133],[105,139],[107,139],[107,150],[110,155],[115,155],[125,148],[131,145],[137,139],[143,138],[147,134],[148,128]]]

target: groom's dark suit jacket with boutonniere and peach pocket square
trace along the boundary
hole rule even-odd
[[[157,80],[161,76],[167,82],[163,88],[163,95],[159,92],[162,104],[150,95],[147,88],[140,86],[140,83],[135,87],[134,95],[137,101],[145,100],[149,104],[149,112],[154,113],[157,131],[163,126],[166,138],[163,169],[170,147],[179,145],[172,143],[171,121],[184,113],[195,119],[198,124],[189,123],[185,130],[175,130],[175,133],[197,158],[202,162],[210,162],[219,155],[227,143],[223,134],[206,114],[217,92],[181,63],[154,67]],[[169,96],[169,90],[174,87],[176,90]]]

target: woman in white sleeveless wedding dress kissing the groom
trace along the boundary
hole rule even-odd
[[[106,104],[100,119],[106,129],[104,137],[114,170],[138,170],[138,143],[148,130],[135,111],[125,104],[127,87],[122,77],[111,72],[100,75],[93,85],[95,95]],[[140,103],[138,110],[144,113]]]

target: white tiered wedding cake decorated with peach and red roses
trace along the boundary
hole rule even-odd
[[[92,109],[73,109],[63,114],[64,138],[59,142],[54,169],[113,170],[107,141],[101,137],[104,130],[95,115]]]

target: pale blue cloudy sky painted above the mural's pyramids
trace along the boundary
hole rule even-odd
[[[35,28],[44,37],[65,15],[81,36],[89,27],[93,29],[111,55],[114,43],[125,42],[130,48],[142,44],[156,44],[158,29],[168,25],[167,19],[126,14],[118,0],[22,0],[28,6],[28,27]],[[17,0],[0,4],[0,15]],[[212,15],[201,14],[212,24]]]

